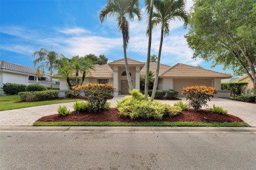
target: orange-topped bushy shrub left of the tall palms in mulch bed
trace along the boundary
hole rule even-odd
[[[85,84],[83,90],[90,103],[90,112],[101,112],[106,101],[113,94],[115,87],[111,84]]]

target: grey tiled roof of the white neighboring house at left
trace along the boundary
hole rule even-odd
[[[4,71],[18,72],[18,73],[29,74],[29,75],[37,74],[37,69],[35,68],[28,67],[25,65],[14,64],[14,63],[10,63],[8,61],[3,61],[3,60],[0,60],[0,69]],[[41,75],[50,75],[50,74],[43,73],[43,71],[41,71]]]

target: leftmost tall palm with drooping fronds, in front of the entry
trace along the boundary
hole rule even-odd
[[[139,0],[108,0],[106,7],[100,11],[99,15],[101,23],[104,22],[107,16],[115,16],[117,19],[117,27],[123,35],[123,56],[125,59],[125,69],[130,89],[133,89],[133,84],[131,83],[126,54],[126,48],[129,42],[129,22],[127,18],[134,20],[135,14],[139,21],[142,20],[139,9]]]

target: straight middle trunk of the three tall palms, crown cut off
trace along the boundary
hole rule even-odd
[[[145,77],[145,90],[144,90],[144,97],[145,100],[148,100],[148,76],[149,76],[149,67],[150,67],[150,51],[151,51],[151,41],[152,41],[152,13],[154,7],[154,0],[150,1],[150,13],[148,17],[148,56],[146,58],[146,77]]]

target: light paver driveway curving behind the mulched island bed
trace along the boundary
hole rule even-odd
[[[122,97],[114,97],[109,100],[112,105],[116,105],[116,101]],[[181,97],[182,101],[186,101]],[[162,103],[173,105],[176,101],[160,100]],[[229,114],[238,116],[252,127],[256,127],[256,104],[232,101],[228,99],[213,98],[208,105],[213,104],[228,110]],[[24,109],[5,110],[0,112],[0,126],[32,126],[33,122],[51,114],[56,114],[59,105],[66,105],[68,109],[72,108],[73,103],[61,103],[54,105],[44,105],[38,107],[28,107]]]

